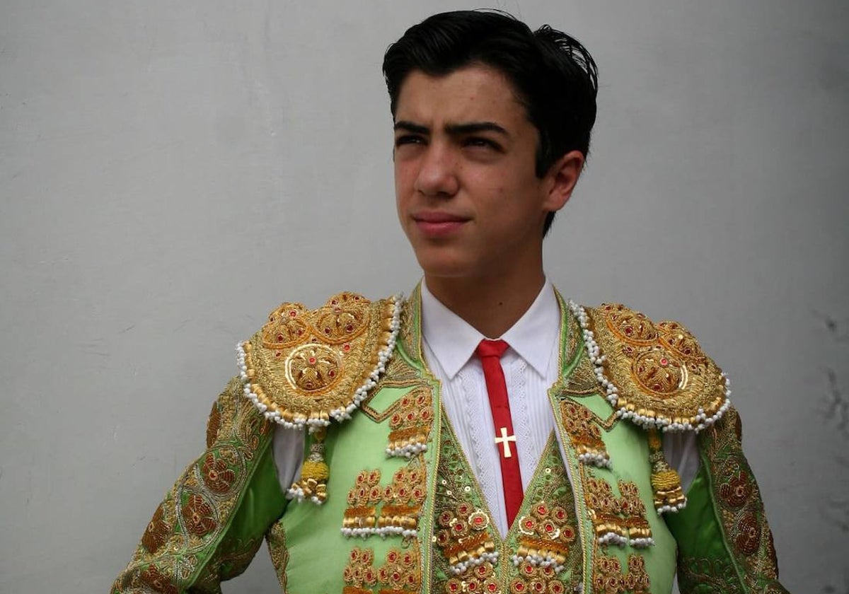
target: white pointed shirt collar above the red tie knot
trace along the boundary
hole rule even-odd
[[[449,310],[421,283],[422,335],[449,379],[453,379],[486,337]],[[552,345],[559,340],[560,307],[546,278],[531,307],[499,338],[543,378],[551,364]]]

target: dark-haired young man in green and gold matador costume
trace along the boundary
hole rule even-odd
[[[595,119],[586,49],[438,14],[385,55],[408,300],[284,303],[113,591],[784,591],[723,374],[676,322],[565,303],[543,235]],[[703,586],[704,585],[704,586]]]

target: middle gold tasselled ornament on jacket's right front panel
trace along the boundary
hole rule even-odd
[[[599,544],[654,545],[637,485],[621,480],[618,486],[621,496],[616,497],[606,480],[589,473],[584,478],[585,500]]]

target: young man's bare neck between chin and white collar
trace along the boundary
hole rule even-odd
[[[529,273],[498,277],[430,277],[424,275],[427,288],[449,310],[462,317],[472,328],[495,339],[507,332],[531,307],[545,275],[542,267]]]

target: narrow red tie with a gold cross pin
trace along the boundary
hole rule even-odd
[[[507,400],[507,384],[501,368],[501,356],[509,345],[503,340],[481,340],[475,354],[481,358],[486,392],[492,408],[495,424],[495,443],[501,458],[501,478],[504,484],[504,507],[507,508],[507,525],[519,513],[522,504],[522,474],[519,468],[519,451],[513,433],[513,418],[510,417],[510,402]]]

